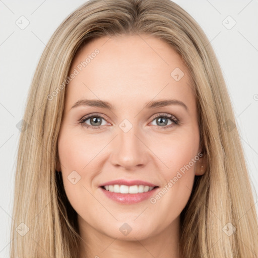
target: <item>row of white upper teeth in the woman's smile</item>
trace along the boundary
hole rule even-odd
[[[147,192],[151,191],[154,187],[153,186],[148,186],[148,185],[119,185],[119,184],[114,184],[114,185],[105,185],[104,188],[107,191],[111,192],[119,192],[119,193],[139,193],[139,192]]]

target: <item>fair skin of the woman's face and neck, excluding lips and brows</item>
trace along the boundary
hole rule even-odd
[[[160,39],[122,35],[102,37],[85,45],[75,56],[70,74],[96,48],[100,53],[66,88],[58,137],[57,170],[78,213],[84,240],[80,257],[179,257],[179,215],[190,197],[195,175],[204,173],[202,165],[205,171],[204,158],[186,170],[155,204],[149,199],[118,204],[107,198],[99,185],[119,178],[140,179],[162,190],[202,151],[197,102],[187,68]],[[175,68],[184,73],[179,81],[170,75]],[[108,101],[114,110],[86,105],[71,109],[82,99]],[[144,108],[145,103],[161,99],[180,100],[188,112],[180,105]],[[100,128],[79,123],[91,113],[105,117],[100,118]],[[164,126],[154,118],[156,114],[171,114],[180,124],[162,130]],[[125,118],[133,125],[127,133],[119,127]],[[166,122],[166,126],[173,123],[170,118]],[[91,119],[84,123],[96,126]],[[72,171],[81,176],[76,184],[68,179]],[[119,230],[125,222],[132,228],[127,235]]]

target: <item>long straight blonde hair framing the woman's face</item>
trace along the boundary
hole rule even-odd
[[[79,257],[77,214],[56,172],[67,77],[76,52],[90,40],[133,34],[152,35],[173,47],[189,69],[197,97],[208,167],[196,176],[180,215],[181,256],[258,256],[257,214],[237,124],[203,30],[169,0],[91,0],[56,29],[33,77],[18,150],[11,258]]]

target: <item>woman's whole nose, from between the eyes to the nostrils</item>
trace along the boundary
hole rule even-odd
[[[144,165],[147,162],[146,146],[137,133],[137,126],[124,119],[119,124],[112,151],[112,163],[126,168]]]

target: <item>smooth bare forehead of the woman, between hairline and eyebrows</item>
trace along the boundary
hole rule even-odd
[[[69,75],[75,71],[66,89],[70,107],[83,98],[120,104],[168,97],[195,101],[182,57],[153,36],[94,39],[75,55]]]

